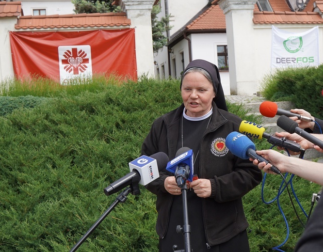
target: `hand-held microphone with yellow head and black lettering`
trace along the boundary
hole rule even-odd
[[[253,122],[243,120],[239,126],[239,131],[247,137],[254,139],[262,139],[262,137],[264,137],[267,139],[267,142],[294,152],[300,152],[301,150],[304,151],[299,143],[288,140],[285,137],[271,136],[265,132],[265,128],[263,126]]]

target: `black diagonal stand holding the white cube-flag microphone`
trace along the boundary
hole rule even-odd
[[[74,247],[70,250],[70,252],[76,251],[81,244],[86,240],[87,237],[91,235],[91,233],[97,228],[97,226],[109,215],[109,213],[113,210],[113,208],[118,205],[118,203],[124,203],[127,200],[127,196],[129,193],[132,193],[133,195],[139,194],[140,189],[138,182],[132,183],[129,188],[125,189],[123,192],[121,192],[117,197],[116,200],[113,202],[112,205],[101,215],[101,217],[97,220],[96,223],[93,224],[93,226],[86,232],[86,234],[74,245]]]

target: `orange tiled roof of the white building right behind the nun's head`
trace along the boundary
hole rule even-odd
[[[223,30],[226,29],[226,16],[218,5],[211,5],[204,13],[186,26],[192,30]]]

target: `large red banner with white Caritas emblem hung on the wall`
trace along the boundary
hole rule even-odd
[[[70,83],[112,73],[137,79],[134,29],[10,32],[17,78],[34,75]]]

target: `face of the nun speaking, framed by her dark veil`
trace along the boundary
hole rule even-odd
[[[215,97],[210,81],[201,73],[191,72],[184,76],[181,88],[186,114],[200,117],[208,113]]]

